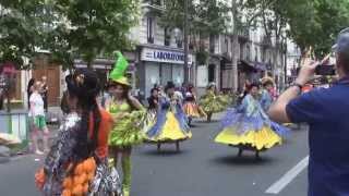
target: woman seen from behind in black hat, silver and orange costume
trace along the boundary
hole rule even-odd
[[[44,168],[35,174],[36,185],[45,196],[112,193],[119,196],[121,183],[107,160],[112,118],[97,105],[98,77],[93,71],[81,71],[67,76],[65,81],[70,113]]]

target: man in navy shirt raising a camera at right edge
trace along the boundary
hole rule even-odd
[[[306,60],[296,83],[269,110],[275,121],[310,125],[309,196],[349,195],[349,28],[339,33],[334,49],[340,78],[334,86],[301,95],[322,64]]]

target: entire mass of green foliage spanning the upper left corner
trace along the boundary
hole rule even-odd
[[[139,5],[139,0],[2,0],[0,61],[24,69],[23,57],[46,49],[69,69],[80,57],[91,64],[99,56],[130,49]]]

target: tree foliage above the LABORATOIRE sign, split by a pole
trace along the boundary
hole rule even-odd
[[[192,48],[198,57],[207,57],[204,40],[210,35],[227,32],[228,7],[218,0],[189,1],[189,34]],[[184,0],[165,1],[165,11],[159,13],[160,24],[168,29],[182,28],[184,21]]]

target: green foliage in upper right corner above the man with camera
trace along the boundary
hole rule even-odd
[[[255,0],[254,0],[255,1]],[[338,32],[348,26],[349,3],[347,0],[262,0],[274,12],[274,20],[289,28],[292,38],[302,51],[309,47],[322,57],[329,52]],[[273,28],[273,24],[269,28]]]

